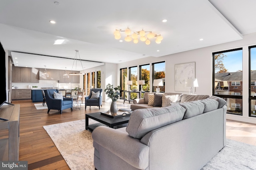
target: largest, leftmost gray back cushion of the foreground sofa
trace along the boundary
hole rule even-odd
[[[131,137],[141,139],[154,129],[182,120],[185,111],[186,109],[180,105],[134,110],[130,115],[126,132]]]

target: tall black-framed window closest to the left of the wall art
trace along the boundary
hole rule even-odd
[[[165,92],[165,62],[152,63],[152,92],[156,92],[156,86],[153,86],[154,79],[162,79],[164,86],[159,86],[160,92]]]

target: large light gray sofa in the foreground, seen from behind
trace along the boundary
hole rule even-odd
[[[215,96],[181,101],[136,109],[127,127],[96,127],[95,168],[200,170],[226,145],[226,101]]]

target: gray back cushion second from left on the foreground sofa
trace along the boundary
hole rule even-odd
[[[199,101],[185,102],[185,103],[180,103],[179,105],[186,109],[183,119],[188,119],[190,117],[200,115],[204,112],[204,104]],[[176,105],[173,105],[173,106],[176,106]]]

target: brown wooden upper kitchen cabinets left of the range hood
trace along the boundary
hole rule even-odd
[[[12,82],[16,83],[38,83],[38,68],[12,66]]]

